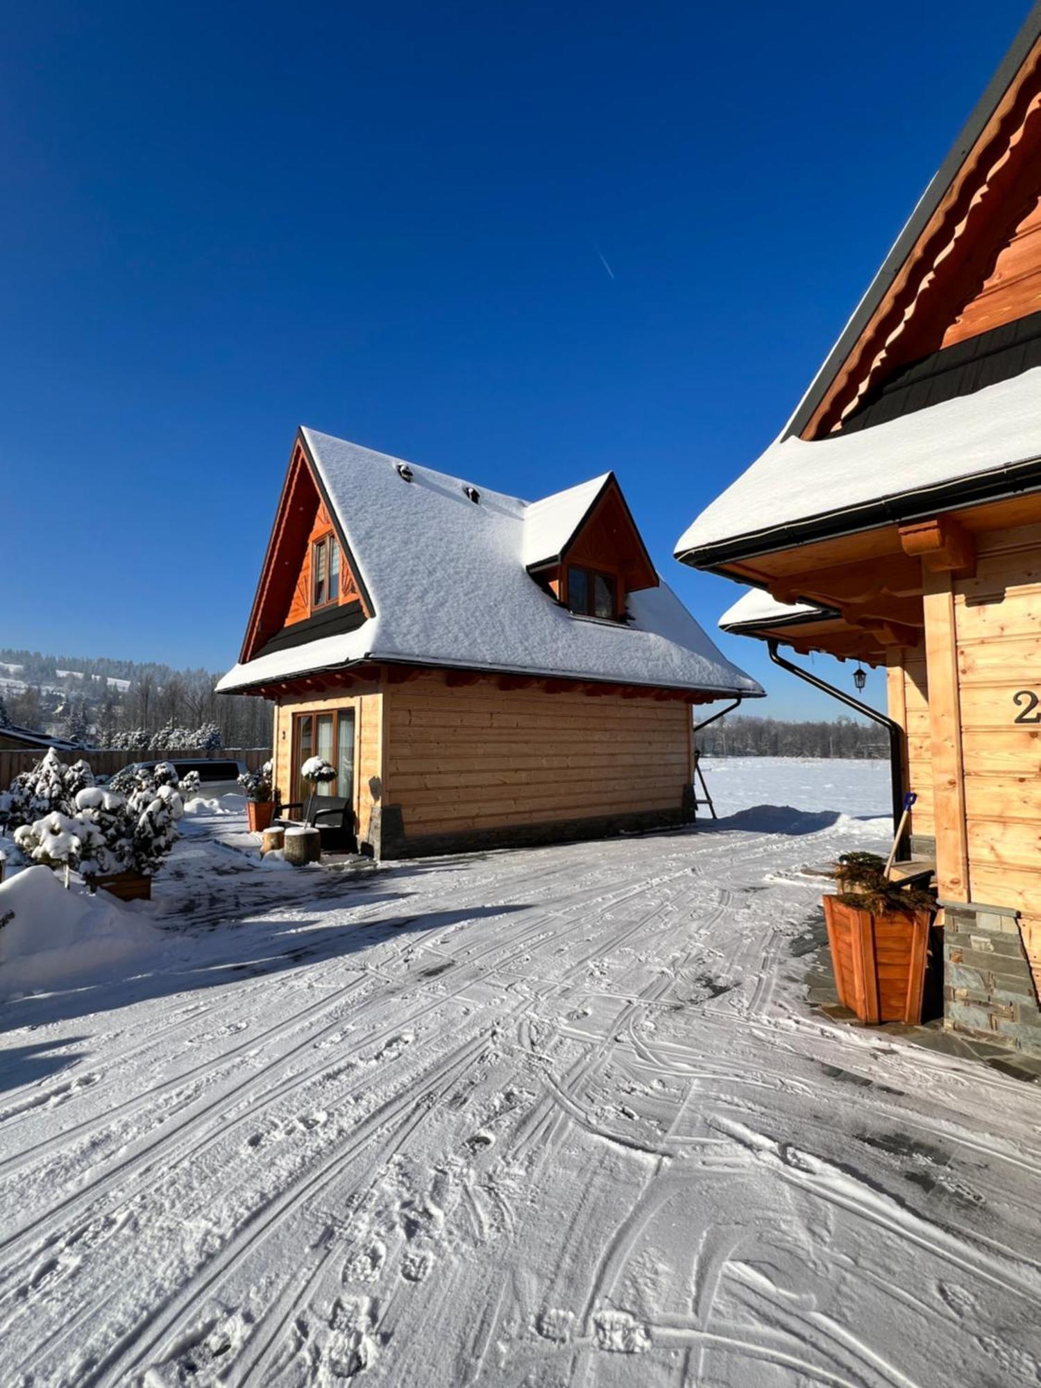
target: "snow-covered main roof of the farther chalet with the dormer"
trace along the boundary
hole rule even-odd
[[[353,632],[236,665],[219,690],[359,661],[537,673],[759,695],[666,584],[630,593],[632,623],[573,616],[526,572],[526,557],[584,515],[604,479],[529,505],[341,439],[303,430],[375,615]],[[580,493],[573,496],[572,493]],[[584,501],[584,505],[583,505]],[[536,541],[526,534],[534,512]]]

